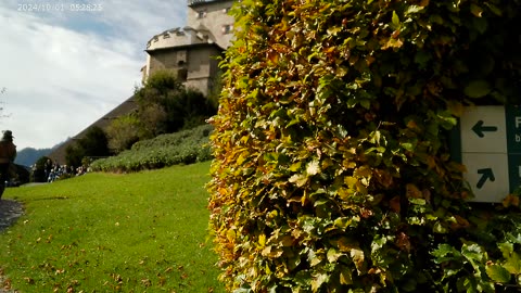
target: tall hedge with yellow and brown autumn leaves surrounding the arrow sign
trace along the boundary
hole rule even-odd
[[[467,105],[519,104],[520,11],[237,3],[207,186],[228,290],[519,289],[519,196],[469,204],[448,132]]]

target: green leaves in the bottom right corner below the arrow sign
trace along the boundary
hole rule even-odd
[[[443,243],[433,250],[443,268],[437,280],[445,292],[509,292],[521,285],[521,214],[501,215],[488,208],[470,217],[474,229],[461,245]],[[517,285],[514,285],[517,283]],[[456,290],[455,290],[456,289]]]

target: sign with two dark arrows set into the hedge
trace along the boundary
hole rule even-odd
[[[472,201],[498,203],[521,186],[521,107],[467,107],[454,137]]]

